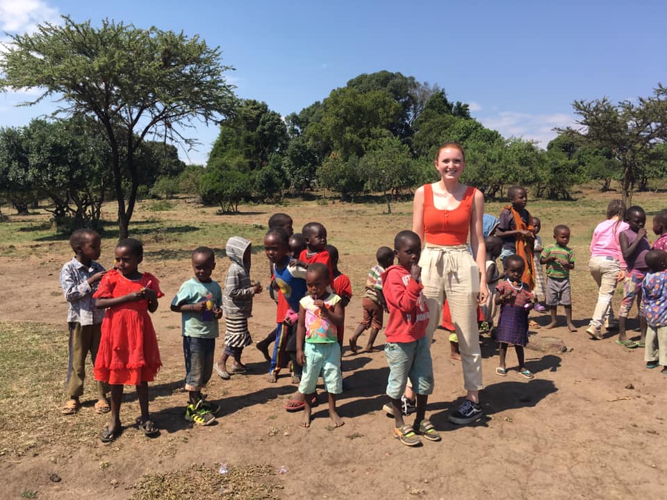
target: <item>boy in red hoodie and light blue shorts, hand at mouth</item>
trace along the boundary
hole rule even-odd
[[[422,243],[412,231],[401,231],[394,240],[398,265],[382,274],[384,297],[389,308],[384,353],[389,365],[387,396],[394,415],[394,437],[406,446],[421,443],[417,433],[429,441],[440,441],[436,428],[426,419],[426,405],[433,392],[433,363],[426,327],[429,309],[422,294],[421,268],[417,265]],[[410,379],[417,399],[414,427],[403,420],[401,396]]]

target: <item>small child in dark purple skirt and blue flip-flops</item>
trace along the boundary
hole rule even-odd
[[[534,375],[526,368],[523,348],[528,343],[528,312],[532,308],[535,296],[528,286],[521,281],[524,270],[523,259],[519,256],[505,258],[505,279],[497,284],[495,303],[500,305],[497,339],[500,343],[500,366],[495,373],[507,375],[505,356],[507,347],[513,345],[519,363],[519,373],[524,378]]]

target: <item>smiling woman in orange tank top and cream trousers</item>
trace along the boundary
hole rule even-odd
[[[438,149],[434,165],[440,181],[416,190],[412,230],[424,244],[419,265],[430,313],[427,335],[432,338],[440,324],[446,296],[459,337],[463,382],[468,394],[466,401],[449,419],[454,424],[469,424],[482,416],[477,305],[484,303],[488,295],[486,278],[481,274],[486,269],[482,237],[484,195],[459,182],[466,167],[466,157],[459,144],[443,144]],[[468,249],[468,235],[472,255]]]

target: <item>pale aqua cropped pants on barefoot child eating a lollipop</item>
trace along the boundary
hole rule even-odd
[[[338,342],[318,344],[306,342],[306,364],[299,383],[299,392],[313,394],[322,374],[324,390],[331,394],[343,392],[343,374],[340,373],[340,345]]]

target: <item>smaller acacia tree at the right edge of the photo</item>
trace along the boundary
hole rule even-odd
[[[603,97],[575,101],[573,108],[582,128],[557,131],[579,133],[586,145],[611,151],[623,171],[621,190],[623,201],[629,204],[633,188],[650,164],[651,151],[667,140],[667,88],[658,84],[652,96],[639,97],[636,103],[621,101],[614,105]]]

